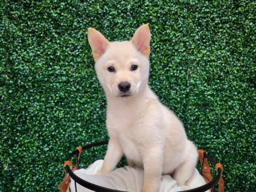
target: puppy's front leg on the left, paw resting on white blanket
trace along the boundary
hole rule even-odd
[[[119,141],[116,138],[110,138],[102,169],[98,172],[97,175],[106,175],[112,172],[115,169],[117,163],[121,160],[122,156],[123,151]]]

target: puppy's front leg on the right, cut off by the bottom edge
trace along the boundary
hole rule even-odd
[[[143,157],[144,180],[142,192],[158,192],[163,166],[163,149],[152,148]]]

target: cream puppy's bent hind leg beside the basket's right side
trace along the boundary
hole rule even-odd
[[[175,170],[173,179],[177,181],[177,185],[181,186],[183,190],[191,189],[185,183],[192,176],[198,159],[198,151],[195,145],[188,140],[186,145],[185,161],[180,164]]]

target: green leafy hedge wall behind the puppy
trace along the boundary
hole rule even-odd
[[[57,191],[64,157],[108,139],[87,28],[122,41],[144,23],[152,90],[223,164],[227,192],[255,191],[255,10],[252,0],[1,1],[0,191]]]

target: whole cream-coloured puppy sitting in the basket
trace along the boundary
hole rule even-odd
[[[97,77],[107,98],[108,150],[99,175],[112,172],[125,154],[128,164],[144,169],[143,192],[157,192],[161,174],[171,174],[188,189],[198,159],[175,114],[148,87],[151,34],[140,26],[131,41],[109,42],[88,29]]]

